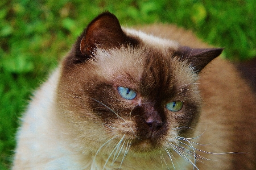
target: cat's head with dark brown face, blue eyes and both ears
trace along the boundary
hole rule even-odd
[[[134,152],[168,148],[195,127],[197,74],[221,48],[195,49],[95,18],[65,58],[59,113],[77,143],[129,143]],[[96,150],[96,151],[97,151]]]

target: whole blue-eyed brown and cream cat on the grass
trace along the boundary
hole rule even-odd
[[[256,99],[222,51],[98,15],[35,92],[13,169],[254,169]]]

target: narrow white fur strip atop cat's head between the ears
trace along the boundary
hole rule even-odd
[[[122,30],[128,35],[128,36],[136,36],[137,38],[140,38],[143,43],[145,44],[149,44],[149,45],[154,45],[158,48],[166,48],[166,47],[172,47],[174,48],[174,50],[179,48],[179,43],[173,41],[173,40],[168,40],[168,39],[163,39],[163,38],[159,38],[156,37],[154,35],[148,35],[145,34],[142,31],[137,31],[137,30],[133,30],[131,28],[123,28]]]

